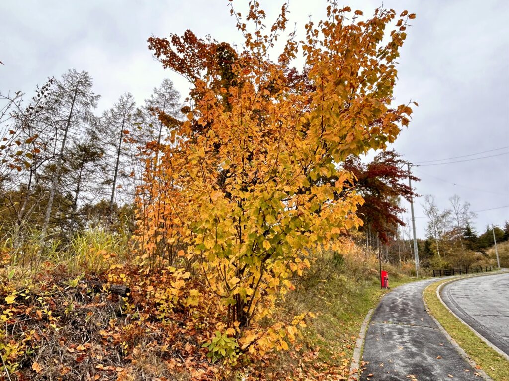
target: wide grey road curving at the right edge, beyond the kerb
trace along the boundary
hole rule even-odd
[[[509,273],[446,284],[440,297],[461,320],[509,355]]]

